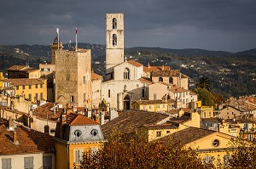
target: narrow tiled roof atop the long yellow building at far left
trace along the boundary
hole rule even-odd
[[[4,79],[3,82],[11,82],[13,86],[44,84],[43,81],[40,81],[38,79],[28,79],[28,78]]]

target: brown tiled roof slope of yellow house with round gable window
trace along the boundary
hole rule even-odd
[[[213,134],[215,131],[196,128],[196,127],[188,127],[178,132],[173,132],[172,134],[165,136],[163,138],[157,139],[162,143],[180,143],[180,144],[189,144],[194,142],[195,140],[205,138],[208,135]]]

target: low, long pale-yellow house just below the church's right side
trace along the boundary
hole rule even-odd
[[[135,100],[131,108],[135,110],[147,110],[154,112],[168,112],[173,109],[175,100]]]

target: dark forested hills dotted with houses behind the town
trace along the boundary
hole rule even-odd
[[[74,47],[75,44],[72,43]],[[67,48],[67,44],[64,44]],[[79,43],[79,48],[90,48],[92,68],[105,73],[106,49],[101,44]],[[256,49],[232,54],[204,49],[125,48],[127,59],[136,59],[143,65],[171,65],[188,75],[192,88],[197,79],[207,76],[212,88],[224,96],[256,94]],[[44,45],[0,46],[0,71],[6,72],[11,65],[50,63],[50,47]]]

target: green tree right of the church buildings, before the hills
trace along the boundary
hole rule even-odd
[[[207,90],[207,88],[197,87],[193,90],[193,92],[198,94],[198,99],[201,100],[202,105],[211,105],[215,104],[215,98],[211,92]]]

